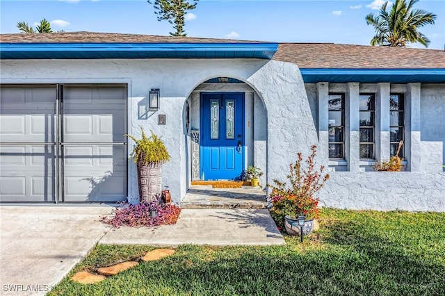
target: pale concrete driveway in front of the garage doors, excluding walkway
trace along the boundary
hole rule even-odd
[[[0,295],[44,295],[110,230],[112,206],[0,206]]]

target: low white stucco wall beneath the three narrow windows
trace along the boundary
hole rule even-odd
[[[445,172],[333,172],[320,204],[380,211],[445,211]]]

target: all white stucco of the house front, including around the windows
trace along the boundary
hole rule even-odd
[[[190,180],[190,142],[184,129],[186,98],[190,97],[191,128],[199,129],[199,93],[193,91],[207,79],[218,76],[245,81],[254,90],[254,164],[266,172],[263,183],[271,183],[275,178],[285,180],[296,153],[302,151],[307,156],[310,146],[319,144],[316,123],[322,118],[314,97],[317,88],[311,85],[305,88],[296,65],[245,59],[1,60],[2,83],[128,83],[129,133],[139,137],[139,126],[143,126],[145,131],[152,130],[163,136],[171,156],[163,166],[163,186],[168,186],[176,203],[184,196]],[[387,92],[387,85],[383,87]],[[160,88],[161,108],[145,113],[151,88]],[[339,208],[445,211],[445,173],[437,172],[437,164],[443,161],[440,156],[444,156],[443,148],[437,151],[445,142],[445,85],[390,85],[391,92],[405,91],[407,101],[414,97],[420,106],[419,116],[407,124],[407,132],[415,140],[411,142],[419,148],[410,156],[416,158],[418,172],[359,172],[363,165],[359,162],[357,147],[358,94],[378,89],[377,84],[329,85],[330,91],[346,92],[346,113],[350,114],[347,128],[351,130],[347,145],[352,144],[347,151],[348,167],[338,167],[352,172],[332,172],[320,195],[322,204]],[[407,113],[416,110],[414,106],[408,108]],[[166,115],[165,125],[158,125],[160,114]],[[318,163],[328,163],[326,155],[319,154]],[[431,171],[430,166],[434,170]],[[129,195],[138,195],[136,167],[132,163],[129,188]]]

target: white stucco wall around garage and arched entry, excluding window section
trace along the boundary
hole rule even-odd
[[[266,181],[284,177],[296,151],[304,151],[308,143],[316,142],[300,72],[289,63],[246,59],[1,60],[1,73],[1,83],[128,83],[128,132],[138,138],[142,126],[147,132],[152,130],[162,135],[171,156],[163,165],[163,186],[168,186],[173,202],[177,203],[184,196],[188,182],[185,102],[197,85],[208,79],[227,76],[247,82],[263,101],[265,114],[274,115],[267,120],[267,147],[275,152],[267,154]],[[145,106],[151,88],[161,90],[161,106],[147,113]],[[158,115],[166,115],[165,125],[158,124]],[[195,124],[199,122],[193,122],[192,127]],[[285,145],[288,142],[291,145]],[[131,161],[129,195],[138,195],[136,165]]]

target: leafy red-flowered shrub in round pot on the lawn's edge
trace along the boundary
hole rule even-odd
[[[305,226],[302,227],[303,234],[307,235],[314,229],[314,220],[318,219],[318,197],[316,192],[320,190],[329,174],[323,174],[324,167],[316,170],[314,158],[316,156],[316,145],[311,147],[312,154],[303,161],[301,152],[298,152],[296,163],[289,165],[289,186],[277,179],[274,185],[269,185],[272,192],[268,197],[270,202],[270,214],[277,226],[286,229],[291,236],[300,235],[298,227],[299,215],[305,216]]]

